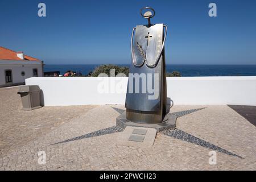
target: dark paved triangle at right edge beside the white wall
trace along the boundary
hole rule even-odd
[[[247,121],[256,126],[256,106],[228,105],[231,109],[242,115]]]

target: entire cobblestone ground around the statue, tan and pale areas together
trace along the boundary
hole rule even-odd
[[[225,105],[174,106],[171,112],[180,116],[177,131],[158,133],[152,148],[137,148],[117,145],[122,131],[114,126],[117,109],[125,109],[121,105],[43,107],[24,113],[15,93],[0,89],[1,170],[256,169],[255,126]],[[195,143],[181,139],[191,136]],[[214,147],[200,146],[201,141],[227,151],[216,150],[216,165],[209,164]],[[46,164],[38,163],[39,151],[46,152]]]

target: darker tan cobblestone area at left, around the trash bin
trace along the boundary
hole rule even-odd
[[[0,88],[0,155],[18,149],[96,107],[65,106],[22,110],[18,90],[18,86]]]

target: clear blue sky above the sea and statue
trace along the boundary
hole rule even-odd
[[[38,16],[40,2],[47,17]],[[208,15],[210,2],[217,17]],[[144,6],[156,11],[152,23],[168,26],[167,64],[256,64],[255,0],[1,0],[0,46],[46,64],[130,64],[131,30],[147,23]]]

